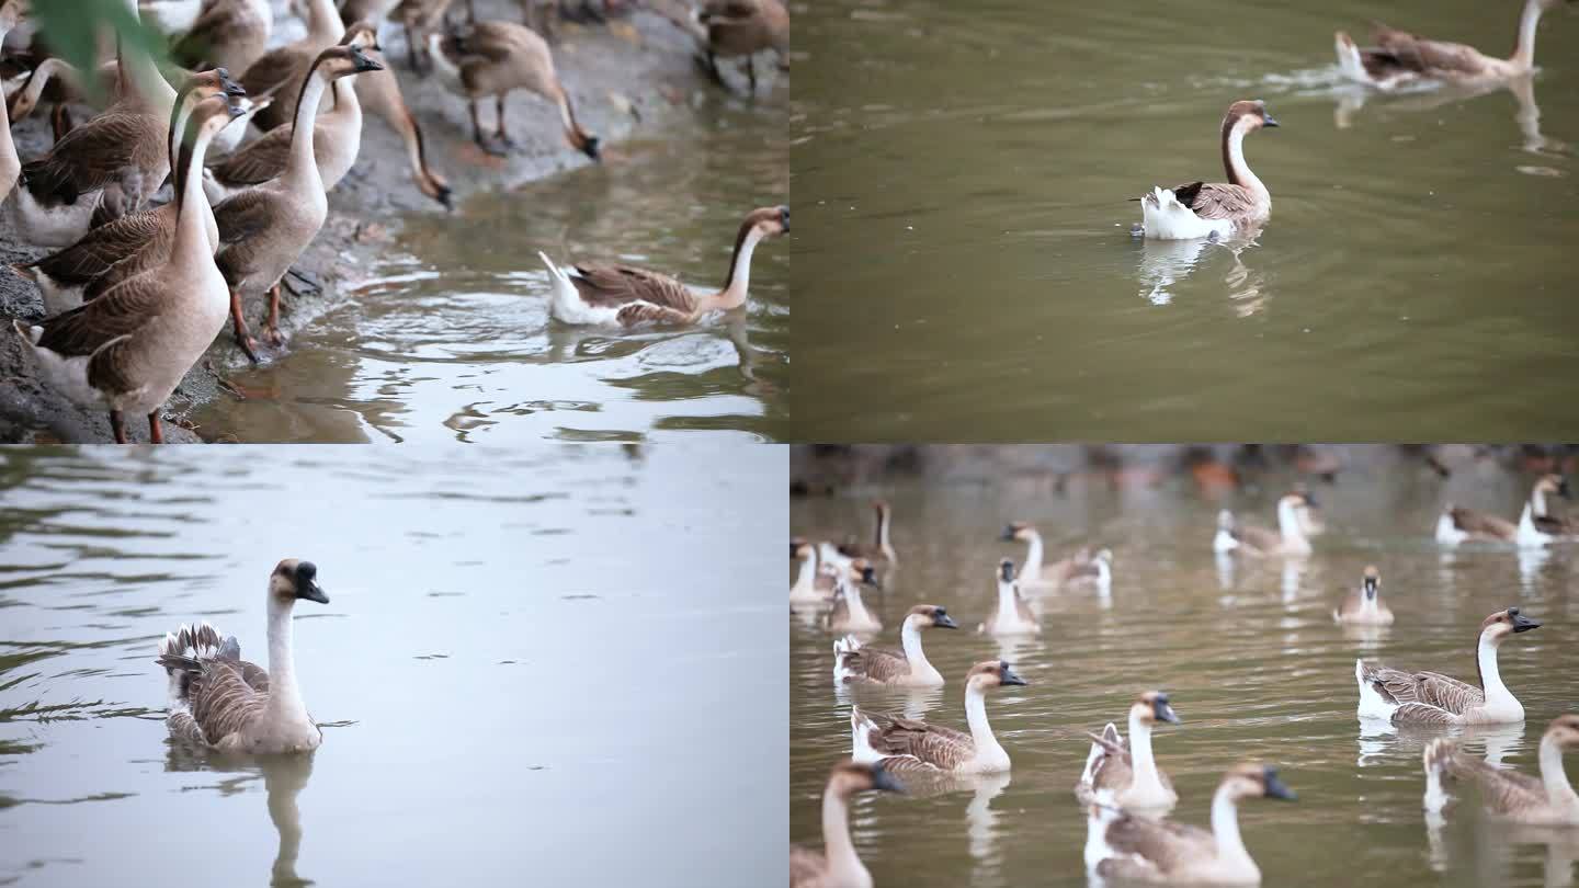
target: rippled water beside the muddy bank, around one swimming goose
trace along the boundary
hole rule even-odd
[[[788,201],[783,92],[711,98],[602,166],[406,220],[373,281],[197,417],[242,441],[643,441],[785,435],[786,242],[744,313],[614,332],[548,318],[537,256],[723,280],[745,213]]]

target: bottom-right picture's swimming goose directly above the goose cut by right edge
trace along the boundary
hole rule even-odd
[[[1540,626],[1516,607],[1498,610],[1481,623],[1480,640],[1475,643],[1480,687],[1435,672],[1372,668],[1355,660],[1355,681],[1360,684],[1358,714],[1363,719],[1421,725],[1522,722],[1524,705],[1514,698],[1497,672],[1497,648],[1508,637]]]

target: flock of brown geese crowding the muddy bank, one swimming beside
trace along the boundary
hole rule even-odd
[[[36,0],[35,0],[36,2]],[[406,28],[411,60],[425,60],[471,107],[472,137],[494,155],[516,147],[505,96],[524,90],[557,112],[568,145],[592,161],[598,136],[554,70],[548,41],[512,21],[464,21],[450,0],[292,0],[302,38],[270,49],[270,0],[125,0],[128,13],[169,38],[169,62],[137,41],[115,58],[76,71],[44,55],[43,41],[13,58],[0,111],[0,212],[21,245],[49,253],[13,265],[38,286],[43,318],[13,319],[41,381],[66,400],[107,411],[117,442],[126,416],[145,416],[163,441],[164,403],[226,325],[257,363],[262,340],[278,349],[281,286],[319,237],[328,193],[357,163],[363,114],[384,119],[406,142],[412,177],[452,205],[452,188],[429,167],[423,133],[381,54],[387,22]],[[542,21],[543,3],[526,3]],[[669,17],[696,38],[698,60],[722,85],[720,60],[744,60],[756,92],[755,55],[788,62],[790,17],[782,0],[703,0]],[[568,13],[568,9],[562,9]],[[602,16],[602,14],[600,14]],[[0,41],[33,32],[28,0],[0,3]],[[71,107],[96,79],[111,104],[74,122]],[[221,100],[223,96],[223,100]],[[480,106],[493,98],[485,133]],[[54,144],[22,160],[11,123],[54,103]],[[155,204],[163,183],[171,199]],[[556,264],[538,253],[551,283],[549,314],[562,324],[628,329],[693,324],[747,303],[758,243],[790,231],[790,207],[759,207],[739,224],[718,288],[682,283],[625,264]],[[303,277],[303,280],[306,280]],[[264,300],[261,337],[246,307]]]

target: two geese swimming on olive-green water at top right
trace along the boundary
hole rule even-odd
[[[1377,24],[1375,46],[1361,47],[1347,32],[1334,35],[1339,73],[1356,84],[1391,92],[1416,84],[1481,87],[1535,71],[1535,27],[1541,14],[1574,0],[1525,0],[1513,55],[1498,58],[1473,46],[1426,40]],[[1271,191],[1244,160],[1244,137],[1277,126],[1260,100],[1240,100],[1222,119],[1221,147],[1227,182],[1153,186],[1140,201],[1137,235],[1154,240],[1247,237],[1273,210]]]

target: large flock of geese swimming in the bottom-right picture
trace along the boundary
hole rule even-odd
[[[1506,525],[1505,534],[1486,536],[1487,542],[1552,545],[1579,540],[1568,518],[1557,514],[1554,498],[1566,498],[1562,476],[1535,479],[1530,499],[1517,523],[1489,515],[1475,515],[1448,506],[1442,521],[1456,526]],[[1219,559],[1274,559],[1301,563],[1307,559],[1326,525],[1315,514],[1317,501],[1303,485],[1296,485],[1276,502],[1277,526],[1258,528],[1241,523],[1232,512],[1221,512],[1211,551]],[[900,555],[892,544],[892,507],[886,501],[873,504],[876,515],[872,539],[876,545],[859,545],[854,537],[845,544],[832,540],[791,542],[791,555],[799,572],[791,586],[791,613],[810,627],[834,635],[834,684],[840,705],[848,692],[862,689],[935,689],[963,679],[965,722],[928,721],[914,714],[883,714],[850,702],[850,758],[832,765],[823,793],[824,853],[791,847],[791,886],[868,888],[872,874],[854,850],[848,823],[853,793],[883,790],[900,795],[930,795],[944,777],[1007,774],[1012,744],[993,733],[987,716],[988,697],[1004,687],[1030,687],[1011,662],[981,659],[963,676],[944,675],[928,660],[922,637],[933,629],[958,629],[946,604],[910,607],[898,627],[900,648],[881,648],[873,640],[883,634],[880,624],[848,629],[832,624],[827,615],[857,586],[883,589],[887,574]],[[1519,526],[1540,528],[1541,536],[1521,536]],[[1462,532],[1462,531],[1456,531]],[[1205,542],[1206,534],[1202,534]],[[1064,561],[1045,563],[1042,536],[1028,521],[1012,521],[998,536],[1000,542],[1023,544],[1025,559],[1015,572],[1014,563],[1001,559],[993,570],[998,594],[979,630],[998,640],[1041,630],[1039,602],[1056,596],[1091,594],[1101,585],[1099,599],[1123,594],[1112,588],[1112,555],[1090,547],[1071,553]],[[1468,540],[1445,536],[1443,547]],[[1483,539],[1483,537],[1473,537]],[[870,556],[883,556],[878,572]],[[1099,580],[1097,580],[1099,577]],[[1067,599],[1066,599],[1067,600]],[[1408,621],[1394,615],[1382,596],[1382,572],[1366,566],[1355,588],[1334,602],[1331,618],[1341,626],[1378,627]],[[1464,681],[1437,672],[1405,668],[1404,664],[1355,660],[1355,716],[1364,724],[1415,725],[1416,730],[1457,725],[1517,725],[1525,721],[1525,708],[1506,686],[1498,670],[1498,654],[1505,642],[1540,629],[1521,607],[1503,607],[1489,613],[1473,630],[1476,681]],[[951,635],[951,634],[944,634]],[[1470,629],[1465,627],[1465,642]],[[940,640],[940,643],[951,643]],[[1465,662],[1465,665],[1468,665]],[[1056,694],[1056,689],[1045,692]],[[865,690],[862,690],[865,694]],[[1551,717],[1551,716],[1547,716]],[[1148,883],[1214,883],[1257,885],[1262,871],[1240,834],[1240,806],[1249,800],[1293,801],[1295,792],[1284,784],[1279,769],[1265,762],[1232,763],[1206,806],[1210,828],[1187,825],[1170,815],[1180,804],[1191,804],[1175,788],[1153,749],[1159,728],[1180,730],[1183,719],[1173,698],[1161,689],[1148,689],[1129,698],[1127,713],[1099,732],[1071,725],[1088,744],[1083,769],[1071,773],[1074,796],[1086,818],[1083,864],[1097,880]],[[1388,728],[1394,730],[1394,728]],[[1164,741],[1165,743],[1165,741]],[[1423,752],[1427,815],[1440,814],[1454,801],[1457,784],[1473,785],[1486,812],[1514,823],[1563,826],[1579,830],[1579,795],[1574,793],[1562,763],[1565,751],[1579,749],[1579,714],[1557,714],[1540,741],[1540,777],[1519,774],[1462,751],[1448,736],[1431,739]],[[947,792],[943,790],[943,792]]]

